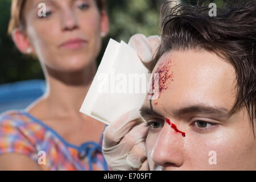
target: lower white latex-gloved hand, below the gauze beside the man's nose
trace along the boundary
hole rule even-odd
[[[113,170],[136,170],[146,159],[144,140],[148,127],[138,121],[141,115],[133,110],[110,123],[104,131],[102,152]]]

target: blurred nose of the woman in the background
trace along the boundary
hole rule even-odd
[[[61,14],[61,27],[62,30],[74,30],[76,29],[78,25],[77,16],[75,13],[73,13],[72,10],[67,9],[63,10],[63,13]]]

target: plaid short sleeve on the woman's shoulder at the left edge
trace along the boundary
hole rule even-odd
[[[36,135],[20,110],[0,114],[0,154],[18,153],[36,159]]]

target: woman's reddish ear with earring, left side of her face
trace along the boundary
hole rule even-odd
[[[28,41],[28,38],[24,32],[20,31],[18,28],[15,28],[11,34],[11,37],[13,38],[15,46],[19,49],[20,52],[24,54],[32,53],[33,48],[30,45],[30,42]]]

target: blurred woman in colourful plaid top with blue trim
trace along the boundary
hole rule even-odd
[[[109,30],[104,7],[104,0],[12,1],[9,34],[39,59],[47,90],[26,109],[1,114],[0,170],[108,169],[105,125],[79,112]]]

